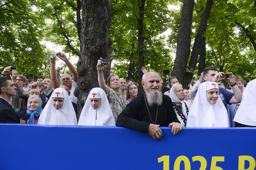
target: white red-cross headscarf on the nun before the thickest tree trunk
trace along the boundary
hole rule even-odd
[[[100,107],[92,109],[90,99],[101,99]],[[97,114],[97,120],[96,120]],[[110,109],[106,93],[101,88],[93,88],[86,99],[84,108],[81,112],[78,125],[90,126],[116,126],[115,119]]]

